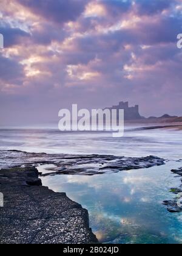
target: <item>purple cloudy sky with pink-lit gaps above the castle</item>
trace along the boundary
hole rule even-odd
[[[0,126],[61,108],[182,116],[182,0],[1,0]]]

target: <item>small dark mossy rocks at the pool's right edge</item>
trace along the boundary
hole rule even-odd
[[[172,169],[174,174],[178,176],[182,176],[182,168]],[[181,179],[182,182],[182,179]],[[182,212],[182,185],[179,188],[171,188],[172,193],[176,194],[173,200],[164,201],[163,204],[166,205],[167,210],[172,213],[180,213]]]

